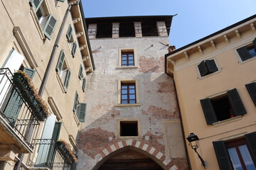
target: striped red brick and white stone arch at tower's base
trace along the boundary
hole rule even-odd
[[[165,154],[160,152],[159,149],[156,149],[154,146],[138,140],[122,140],[119,142],[114,142],[112,145],[102,149],[95,156],[97,159],[97,164],[100,164],[100,162],[105,162],[108,155],[124,147],[134,147],[137,149],[137,151],[141,150],[144,153],[146,152],[146,154],[149,154],[151,158],[159,163],[159,165],[164,169],[178,170],[178,167],[174,164],[171,158],[166,157]]]

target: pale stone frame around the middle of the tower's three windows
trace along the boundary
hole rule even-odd
[[[136,89],[136,103],[134,104],[122,104],[121,103],[121,84],[129,84],[134,83]],[[124,107],[124,106],[141,106],[139,103],[139,81],[137,79],[118,79],[117,81],[117,107]]]

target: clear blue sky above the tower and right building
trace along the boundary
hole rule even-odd
[[[256,14],[256,0],[82,0],[86,18],[175,15],[176,49]]]

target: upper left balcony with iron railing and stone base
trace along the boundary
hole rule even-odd
[[[39,120],[13,82],[8,68],[0,69],[0,160],[13,160],[14,154],[33,152]]]

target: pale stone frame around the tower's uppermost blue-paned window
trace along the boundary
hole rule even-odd
[[[134,52],[134,66],[122,66],[122,52]],[[135,48],[120,48],[118,50],[118,69],[137,69],[138,61],[137,61],[137,50]]]

